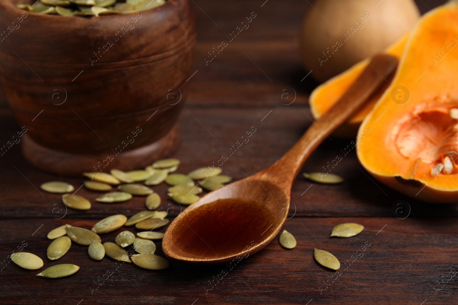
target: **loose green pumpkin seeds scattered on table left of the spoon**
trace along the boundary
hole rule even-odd
[[[60,0],[63,1],[63,0]],[[156,245],[153,240],[161,240],[164,233],[153,231],[169,224],[166,219],[166,211],[158,211],[161,203],[160,196],[153,191],[151,186],[162,182],[167,183],[168,195],[177,203],[189,205],[196,202],[202,193],[202,188],[207,191],[216,190],[232,180],[229,176],[220,175],[220,168],[198,168],[188,175],[173,173],[178,169],[180,161],[177,159],[164,159],[154,162],[143,170],[120,171],[113,169],[110,173],[86,172],[83,176],[91,179],[83,182],[83,185],[92,191],[109,192],[113,186],[117,191],[105,193],[96,200],[101,203],[118,203],[130,200],[132,196],[145,196],[147,210],[140,211],[131,217],[123,214],[115,214],[98,221],[89,230],[73,225],[61,225],[51,230],[47,237],[53,240],[48,246],[47,256],[49,260],[57,260],[70,250],[71,242],[88,246],[89,257],[94,260],[102,260],[105,256],[122,262],[133,262],[140,268],[160,270],[169,267],[169,262],[154,254]],[[196,185],[195,181],[198,182]],[[136,182],[143,182],[139,184]],[[71,184],[61,181],[43,183],[41,189],[49,193],[62,195],[62,202],[71,209],[91,209],[91,202],[86,198],[71,194],[75,190]],[[106,234],[119,230],[121,227],[135,225],[136,229],[145,230],[135,236],[129,230],[121,231],[114,242],[104,242],[99,234]],[[292,236],[292,235],[291,235]],[[293,237],[294,239],[294,237]],[[295,243],[295,240],[294,240]],[[125,247],[132,246],[134,254],[129,257]],[[22,268],[39,269],[44,265],[43,260],[27,252],[18,252],[11,256],[11,260]],[[61,278],[69,276],[79,270],[79,266],[73,264],[58,264],[38,273],[45,278]]]

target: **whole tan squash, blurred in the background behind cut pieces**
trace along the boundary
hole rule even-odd
[[[420,13],[413,0],[316,0],[302,24],[306,69],[325,81],[382,52],[408,32]]]

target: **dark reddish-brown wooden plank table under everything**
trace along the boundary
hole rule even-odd
[[[256,132],[249,143],[224,162],[224,174],[240,179],[277,160],[311,124],[307,97],[316,83],[310,77],[301,81],[308,72],[301,66],[298,51],[298,29],[304,12],[311,8],[310,1],[193,2],[198,33],[196,73],[180,117],[179,172],[229,155],[229,148],[254,126]],[[419,0],[418,5],[425,12],[443,2]],[[207,52],[253,11],[256,18],[250,27],[206,65]],[[288,95],[282,99],[284,93]],[[5,104],[0,116],[3,144],[20,128]],[[304,171],[320,171],[349,141],[327,140],[306,162]],[[290,218],[284,225],[297,240],[293,250],[279,246],[277,237],[232,268],[172,265],[162,271],[128,263],[115,265],[107,257],[96,262],[88,257],[86,246],[76,244],[58,262],[50,262],[46,259],[49,230],[65,223],[91,228],[111,214],[130,216],[144,209],[144,199],[101,204],[94,200],[98,194],[82,187],[78,194],[89,198],[93,208],[83,212],[69,209],[65,214],[60,195],[39,190],[41,183],[62,178],[27,164],[19,145],[0,157],[0,166],[0,304],[458,303],[457,206],[421,203],[389,189],[362,169],[354,151],[333,169],[345,178],[341,185],[312,184],[297,177]],[[77,188],[83,179],[63,180]],[[160,209],[171,216],[180,212],[167,199],[165,185],[154,190],[163,199]],[[403,210],[393,214],[398,200],[408,205],[404,203]],[[349,239],[329,237],[333,226],[343,222],[360,223],[365,230]],[[117,233],[103,235],[103,241],[114,241]],[[157,245],[157,254],[163,255],[160,243]],[[44,267],[75,263],[81,269],[68,278],[38,278],[38,271],[6,263],[8,255],[21,246],[22,251],[44,258]],[[327,249],[338,257],[340,273],[318,265],[314,248]],[[359,249],[364,251],[357,252]],[[218,275],[223,269],[228,274],[221,278]]]

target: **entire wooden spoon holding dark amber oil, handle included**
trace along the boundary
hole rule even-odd
[[[397,64],[393,56],[374,56],[338,102],[280,160],[208,193],[181,212],[164,234],[164,253],[186,262],[237,263],[267,246],[288,215],[291,186],[307,157],[387,81]]]

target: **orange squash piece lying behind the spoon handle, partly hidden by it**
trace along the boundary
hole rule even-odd
[[[385,50],[385,53],[393,55],[398,59],[401,58],[408,37],[409,34],[405,34],[396,43],[388,47]],[[320,86],[317,86],[309,97],[310,110],[313,117],[315,119],[320,118],[324,112],[327,112],[327,110],[331,108],[331,106],[333,106],[342,95],[344,95],[345,91],[347,91],[347,89],[354,83],[367,65],[368,62],[362,60],[359,63],[354,64],[348,70],[334,76],[322,83]],[[393,78],[388,79],[387,84],[376,91],[368,99],[365,105],[333,134],[341,138],[354,138],[361,122],[372,110],[372,107],[374,107],[377,100],[380,96],[382,96],[392,79]]]

